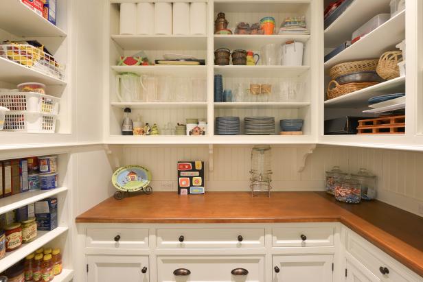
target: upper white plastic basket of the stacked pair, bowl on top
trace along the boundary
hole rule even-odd
[[[22,112],[59,113],[60,99],[35,92],[0,92],[0,106]]]

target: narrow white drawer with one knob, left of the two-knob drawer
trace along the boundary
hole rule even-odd
[[[87,247],[148,248],[148,229],[87,228]]]

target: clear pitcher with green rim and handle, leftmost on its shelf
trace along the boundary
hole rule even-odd
[[[137,73],[116,75],[116,95],[120,102],[138,101],[141,97],[139,75]]]

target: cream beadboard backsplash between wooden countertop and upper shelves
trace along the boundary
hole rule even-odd
[[[126,146],[124,165],[139,164],[152,172],[155,191],[176,191],[176,162],[205,161],[206,191],[249,191],[251,145],[214,145],[213,171],[209,147]],[[297,171],[299,148],[272,146],[273,191],[324,190],[325,171],[339,165],[345,172],[364,167],[378,176],[378,198],[413,213],[423,204],[423,153],[352,147],[318,146]],[[422,215],[422,214],[420,214]]]

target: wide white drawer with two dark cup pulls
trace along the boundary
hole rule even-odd
[[[264,281],[264,257],[157,257],[157,278],[160,282]]]

